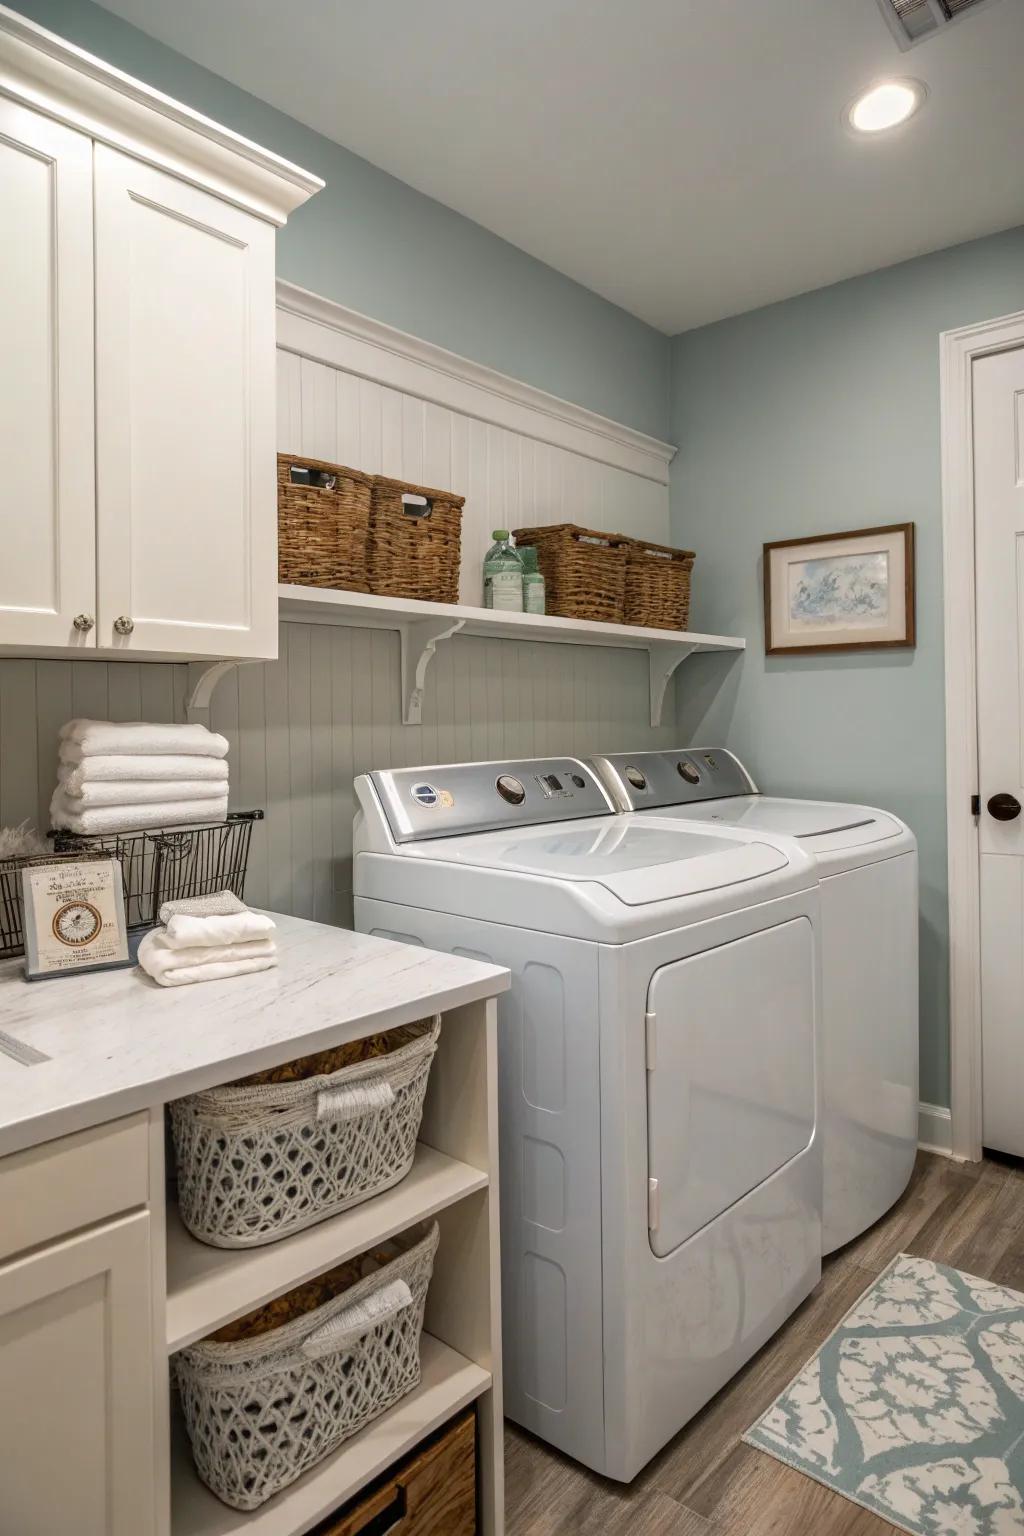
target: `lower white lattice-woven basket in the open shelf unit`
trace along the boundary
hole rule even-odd
[[[436,1223],[218,1329],[175,1356],[203,1482],[255,1510],[419,1382]]]

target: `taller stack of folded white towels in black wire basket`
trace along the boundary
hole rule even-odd
[[[227,740],[204,725],[69,720],[58,737],[51,825],[126,833],[227,816]]]

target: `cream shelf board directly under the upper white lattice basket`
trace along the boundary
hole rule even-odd
[[[364,1253],[416,1221],[436,1217],[487,1187],[487,1174],[416,1147],[411,1172],[395,1189],[330,1221],[296,1232],[287,1243],[256,1249],[215,1249],[197,1243],[177,1207],[167,1209],[167,1349],[184,1349],[213,1329],[301,1286],[333,1264]]]

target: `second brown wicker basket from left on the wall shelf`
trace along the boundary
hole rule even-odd
[[[373,478],[370,591],[381,598],[459,601],[459,545],[465,496]]]

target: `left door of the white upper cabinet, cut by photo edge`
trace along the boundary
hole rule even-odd
[[[92,141],[0,98],[0,645],[89,650]]]

